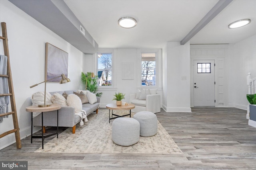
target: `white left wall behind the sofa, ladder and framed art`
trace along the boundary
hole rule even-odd
[[[44,81],[46,42],[68,52],[68,78],[71,80],[67,84],[47,83],[48,92],[79,88],[84,54],[7,0],[0,0],[0,21],[6,22],[7,26],[18,123],[20,136],[24,138],[31,133],[31,113],[26,112],[26,107],[31,105],[30,97],[34,92],[44,90],[43,84],[32,89],[29,87]],[[2,40],[0,54],[4,54]],[[0,123],[0,134],[11,129],[10,115]],[[14,133],[0,139],[0,149],[12,143],[15,143]]]

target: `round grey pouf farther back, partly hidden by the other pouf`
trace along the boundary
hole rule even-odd
[[[139,111],[133,116],[140,122],[140,136],[150,137],[157,133],[157,117],[150,111]]]

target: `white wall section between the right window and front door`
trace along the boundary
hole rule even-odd
[[[190,112],[190,45],[168,42],[163,48],[163,109]],[[186,77],[186,80],[182,80]]]

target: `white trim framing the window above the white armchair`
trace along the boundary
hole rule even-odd
[[[156,53],[156,86],[142,86],[141,84],[141,53]],[[137,72],[137,87],[138,88],[162,88],[162,49],[138,49],[138,58],[140,63],[138,64]]]

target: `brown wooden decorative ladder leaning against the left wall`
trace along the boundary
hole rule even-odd
[[[19,129],[19,125],[18,125],[18,117],[17,117],[16,104],[15,104],[15,98],[14,98],[14,90],[13,90],[13,85],[12,85],[12,72],[11,72],[11,67],[10,67],[10,57],[9,57],[6,23],[1,22],[1,25],[2,25],[2,37],[0,36],[0,39],[3,40],[4,55],[8,57],[8,61],[7,61],[7,75],[0,74],[0,77],[6,77],[8,79],[9,93],[8,94],[0,94],[0,96],[10,96],[10,103],[11,103],[12,111],[8,112],[8,113],[0,114],[0,117],[6,116],[6,115],[12,115],[14,129],[0,134],[0,138],[4,137],[6,135],[9,135],[11,133],[15,133],[16,146],[17,146],[17,149],[20,149],[21,148],[20,129]]]

